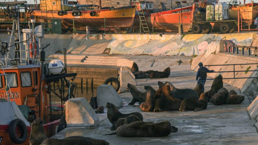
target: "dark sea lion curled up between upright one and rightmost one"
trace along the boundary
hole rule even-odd
[[[228,90],[226,88],[220,88],[218,92],[212,97],[212,103],[214,105],[223,105],[226,103],[228,97]]]

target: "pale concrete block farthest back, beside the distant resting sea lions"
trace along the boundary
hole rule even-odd
[[[130,75],[128,71],[120,71],[120,86],[127,86],[128,83],[137,86],[135,79]]]

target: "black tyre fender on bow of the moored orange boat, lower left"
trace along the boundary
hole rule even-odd
[[[21,135],[17,136],[16,128],[20,127]],[[21,119],[13,120],[8,126],[9,138],[15,144],[22,144],[28,138],[28,130],[26,124]]]

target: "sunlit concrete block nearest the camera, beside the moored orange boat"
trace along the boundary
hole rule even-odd
[[[65,103],[67,126],[96,126],[99,117],[85,98],[71,98]]]

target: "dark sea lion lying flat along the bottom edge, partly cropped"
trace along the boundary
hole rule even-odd
[[[41,145],[109,145],[109,143],[83,136],[70,136],[64,139],[48,138]]]

